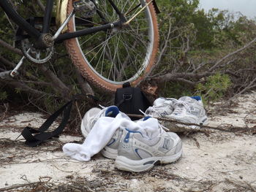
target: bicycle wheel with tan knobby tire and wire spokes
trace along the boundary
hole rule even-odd
[[[148,2],[149,0],[130,0],[130,1],[124,0],[124,2],[120,2],[120,0],[118,0],[118,1],[116,0],[114,2],[116,2],[119,9],[121,9],[124,12],[125,11],[129,12],[132,10],[133,7],[135,7],[135,5],[134,5],[135,1],[137,4],[141,3],[141,1],[142,1],[142,4],[146,4],[146,2]],[[105,5],[105,7],[106,7],[105,9],[110,10],[109,7],[107,7],[108,5],[106,2],[104,3],[103,1],[100,1],[100,3],[103,4],[103,5],[99,5],[100,8],[104,7],[104,5]],[[129,4],[129,7],[127,6],[127,4]],[[122,5],[124,5],[124,6],[121,7]],[[128,7],[129,11],[127,10],[127,7]],[[142,7],[142,5],[139,8],[141,9],[141,7]],[[73,9],[72,0],[69,0],[68,6],[67,6],[67,14],[69,14],[69,12],[71,12],[72,9]],[[129,18],[132,18],[132,15],[135,14],[135,11],[138,11],[138,10],[132,10],[132,14],[129,15]],[[104,14],[107,15],[108,12],[107,13],[104,12]],[[113,15],[110,15],[110,16],[113,17]],[[145,20],[146,20],[146,22],[144,22]],[[114,22],[114,21],[116,21],[116,20],[112,20],[112,22]],[[137,23],[135,23],[135,22],[137,22]],[[124,82],[128,82],[128,81],[131,83],[132,86],[136,86],[151,72],[151,69],[155,63],[155,58],[157,55],[158,45],[159,45],[159,31],[158,31],[158,25],[157,25],[157,15],[156,15],[154,6],[152,4],[149,4],[148,7],[146,7],[146,9],[144,9],[144,11],[140,13],[140,16],[136,17],[135,20],[132,20],[131,23],[132,23],[131,26],[129,26],[129,28],[128,28],[129,30],[131,29],[130,31],[129,30],[125,31],[126,29],[124,29],[124,30],[121,29],[118,32],[114,31],[113,33],[116,32],[116,34],[111,34],[112,36],[109,37],[109,39],[107,39],[108,35],[110,35],[109,31],[104,31],[104,32],[101,32],[102,34],[98,34],[98,36],[100,37],[100,35],[101,35],[102,38],[104,38],[104,35],[105,35],[105,42],[107,41],[105,43],[106,44],[105,47],[103,48],[104,50],[102,50],[103,53],[101,53],[103,55],[103,58],[102,58],[102,55],[97,56],[97,58],[99,58],[98,61],[96,59],[95,59],[95,61],[93,61],[93,60],[89,61],[88,57],[91,55],[89,55],[89,54],[86,55],[86,53],[85,53],[86,49],[84,49],[82,47],[83,41],[81,39],[74,38],[74,39],[68,39],[65,41],[65,45],[67,47],[67,52],[69,53],[69,56],[72,59],[72,63],[78,67],[80,73],[83,75],[83,77],[86,78],[86,80],[88,80],[93,85],[97,86],[98,88],[102,88],[105,91],[116,91],[117,88],[121,88],[121,86],[124,84]],[[135,31],[134,28],[132,28],[132,27],[134,27],[134,26],[136,27],[136,25],[138,26],[138,28],[135,28],[135,30],[136,30]],[[146,25],[148,28],[142,28],[144,25]],[[139,27],[141,27],[141,28],[139,28]],[[69,21],[67,28],[68,28],[69,32],[76,31],[76,28],[79,28],[79,26],[75,25],[75,17]],[[138,34],[138,37],[137,37],[137,34],[135,34],[135,32],[137,32],[137,31],[139,31],[139,33],[141,31],[141,34]],[[148,37],[146,37],[146,35],[144,35],[144,34],[148,35]],[[117,37],[118,35],[119,35],[119,37]],[[94,37],[94,34],[92,35],[92,37]],[[90,38],[92,38],[92,37],[90,37]],[[134,46],[135,49],[133,49],[133,47],[131,47],[131,44],[130,44],[130,42],[132,42],[133,37],[134,37],[133,45],[135,45]],[[97,38],[95,37],[92,42],[94,43],[95,41],[97,41]],[[112,38],[112,39],[110,39],[110,38]],[[89,38],[87,38],[87,39],[89,39]],[[115,42],[110,42],[110,40],[118,41],[117,45],[115,44]],[[127,41],[127,42],[123,42],[123,41]],[[137,41],[139,41],[139,43],[137,43]],[[114,55],[114,57],[112,57],[112,59],[113,60],[116,59],[118,61],[110,61],[111,55],[109,56],[106,53],[107,52],[107,50],[106,50],[107,43],[108,43],[108,46],[110,47],[108,50],[110,52],[110,54],[111,54],[111,49],[112,50],[115,49],[115,51],[114,51],[115,54],[122,53],[122,52],[124,55],[127,54],[125,59],[128,60],[129,64],[127,64],[127,60],[124,60],[124,55],[121,55],[121,56]],[[101,44],[101,42],[100,42],[100,44]],[[118,52],[116,51],[117,48],[115,47],[115,45],[119,46]],[[96,46],[94,46],[94,47],[96,47]],[[125,52],[127,52],[127,53],[125,53]],[[96,55],[98,53],[99,53],[99,51],[96,53]],[[107,57],[105,55],[108,56],[108,59],[105,58],[105,57]],[[142,56],[140,56],[140,55],[142,55]],[[118,57],[118,59],[117,59],[117,57]],[[92,59],[94,59],[94,58],[96,58],[96,56],[93,56]],[[102,61],[100,61],[100,62],[102,62],[102,66],[100,69],[101,72],[99,72],[99,71],[97,71],[97,66],[98,66],[99,60],[101,58],[102,58]],[[121,61],[121,59],[122,59],[122,61]],[[138,61],[137,61],[137,59],[138,59]],[[124,61],[126,62],[125,64],[127,64],[127,66],[125,66],[125,69],[124,69],[124,66],[122,66],[123,64],[121,64]],[[141,61],[143,61],[143,63],[141,64],[141,66],[138,66],[138,63],[140,63]],[[95,65],[93,62],[94,63],[97,62],[97,64]],[[110,62],[111,62],[111,64],[110,64]],[[118,64],[116,64],[116,62],[118,62]],[[107,64],[105,64],[105,63],[107,63]],[[103,66],[103,64],[105,64],[105,66]],[[105,69],[108,69],[109,66],[110,66],[110,72],[108,72],[108,75],[106,75],[107,72],[105,72]],[[114,66],[113,67],[114,69],[112,68],[112,66]],[[131,69],[132,66],[134,66],[135,69]],[[103,69],[103,67],[104,67],[104,69]],[[115,70],[116,70],[116,72],[118,72],[118,74],[115,73]],[[103,74],[103,73],[105,73],[105,74]],[[131,74],[129,74],[129,73],[131,73]],[[112,74],[112,77],[110,77],[110,74]],[[108,76],[108,77],[106,77],[106,76]],[[118,80],[116,80],[116,78]]]

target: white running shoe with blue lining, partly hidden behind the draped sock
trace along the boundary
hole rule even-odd
[[[86,115],[84,115],[81,123],[81,131],[82,131],[83,137],[87,137],[87,135],[91,131],[91,128],[94,126],[94,124],[97,122],[99,118],[101,117],[116,118],[116,115],[118,115],[119,112],[120,111],[116,106],[105,107],[103,110],[100,110],[99,108],[96,108],[96,107],[91,108],[91,110],[86,112]],[[124,118],[129,118],[123,112],[121,112],[121,115]],[[118,128],[115,134],[113,135],[113,137],[108,142],[108,145],[106,145],[103,148],[103,150],[101,150],[102,155],[104,155],[106,158],[113,158],[113,159],[116,158],[122,132],[123,130]]]

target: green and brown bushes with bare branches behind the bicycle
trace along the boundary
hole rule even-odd
[[[43,14],[38,12],[38,1],[12,2],[24,15]],[[255,88],[252,83],[256,74],[255,43],[235,54],[256,37],[255,20],[227,10],[205,12],[199,8],[198,0],[158,0],[157,4],[161,10],[158,15],[159,58],[147,79],[149,83],[157,83],[157,96],[178,98],[199,94],[207,101],[215,101],[226,96],[227,91],[233,96]],[[18,51],[3,48],[6,46],[2,43],[13,47],[16,29],[1,11],[0,72],[13,69],[21,57]],[[19,77],[0,80],[0,100],[14,102],[12,95],[16,93],[24,103],[50,112],[72,95],[86,94],[83,87],[89,85],[72,66],[64,46],[57,45],[56,53],[44,66],[26,63]],[[51,74],[46,74],[45,70],[50,70]],[[58,79],[61,86],[50,78]],[[113,101],[113,96],[107,99],[97,88],[91,91],[106,105]],[[83,110],[90,107],[88,103],[89,100],[84,101]]]

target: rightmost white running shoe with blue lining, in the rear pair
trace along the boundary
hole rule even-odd
[[[175,110],[167,118],[172,118],[183,123],[204,125],[208,123],[206,110],[200,96],[182,96],[175,104]]]

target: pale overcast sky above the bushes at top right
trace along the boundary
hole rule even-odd
[[[208,11],[213,7],[241,12],[249,18],[256,17],[256,0],[200,0],[200,8]]]

